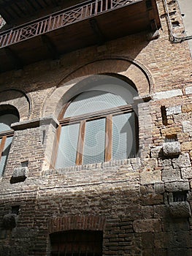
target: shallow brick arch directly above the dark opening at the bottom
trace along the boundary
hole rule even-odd
[[[93,215],[75,215],[50,219],[49,233],[66,230],[104,230],[105,217]]]

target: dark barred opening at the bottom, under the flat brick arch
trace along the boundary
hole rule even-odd
[[[101,256],[102,232],[69,230],[50,234],[50,256]]]

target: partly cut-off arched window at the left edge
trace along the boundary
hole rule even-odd
[[[12,143],[13,130],[11,124],[19,121],[19,114],[15,108],[0,108],[0,176],[4,172],[9,149]]]

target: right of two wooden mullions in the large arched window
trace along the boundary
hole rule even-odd
[[[112,159],[112,115],[106,118],[105,161]]]

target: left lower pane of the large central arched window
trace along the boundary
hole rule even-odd
[[[58,145],[56,168],[69,167],[76,164],[77,143],[80,124],[70,124],[61,127]]]

